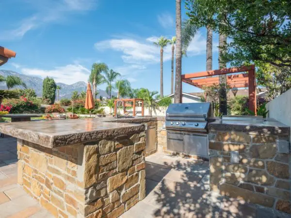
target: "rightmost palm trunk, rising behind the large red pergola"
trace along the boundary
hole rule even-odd
[[[222,56],[225,54],[226,35],[219,34],[219,69],[225,68],[226,64],[222,62]],[[219,75],[219,83],[221,88],[219,91],[219,111],[221,114],[227,114],[227,93],[226,93],[226,75]]]

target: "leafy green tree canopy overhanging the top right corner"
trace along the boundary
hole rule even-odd
[[[266,62],[291,68],[290,0],[185,0],[197,27],[226,34],[224,62]]]

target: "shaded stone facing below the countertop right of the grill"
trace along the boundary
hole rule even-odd
[[[289,136],[211,130],[209,140],[213,191],[291,214],[290,154],[278,149]]]

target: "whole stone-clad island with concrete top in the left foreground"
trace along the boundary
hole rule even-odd
[[[55,217],[116,218],[145,198],[145,125],[98,119],[8,123],[18,184]]]

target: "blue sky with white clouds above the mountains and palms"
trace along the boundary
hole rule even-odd
[[[182,5],[183,8],[183,5]],[[175,35],[175,0],[9,0],[1,2],[0,45],[16,51],[1,69],[72,84],[87,81],[94,62],[129,79],[132,88],[160,90],[160,50],[153,41]],[[183,18],[187,18],[182,9]],[[218,36],[213,69],[218,67]],[[171,48],[164,51],[164,94],[170,93]],[[206,68],[201,28],[182,60],[182,74]],[[105,88],[101,85],[99,88]],[[183,84],[183,91],[199,89]]]

